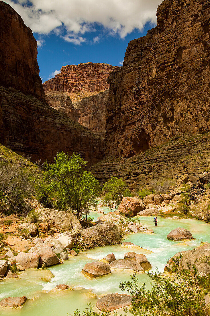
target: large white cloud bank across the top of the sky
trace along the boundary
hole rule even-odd
[[[81,34],[95,31],[99,24],[110,34],[124,38],[146,22],[156,23],[156,9],[161,0],[5,0],[23,18],[33,32],[62,33],[64,40],[80,45]],[[65,32],[63,34],[63,32]],[[97,37],[96,37],[97,38]],[[95,39],[96,39],[95,38]]]

